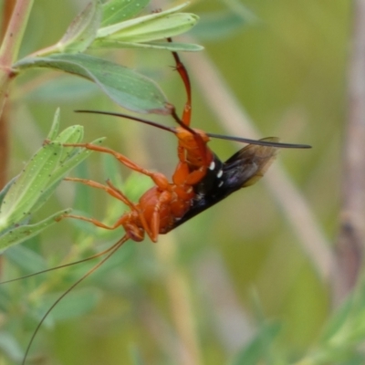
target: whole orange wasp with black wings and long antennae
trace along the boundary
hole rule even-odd
[[[171,105],[172,118],[179,124],[179,127],[170,128],[150,120],[143,120],[126,114],[97,110],[77,110],[78,112],[99,113],[124,117],[131,120],[141,121],[142,123],[149,124],[162,130],[171,131],[178,139],[177,154],[179,162],[172,174],[171,183],[162,173],[146,170],[135,162],[130,161],[129,158],[120,152],[113,151],[107,147],[93,145],[90,143],[64,145],[65,147],[81,147],[92,151],[109,153],[131,170],[149,176],[155,185],[146,193],[141,195],[138,203],[133,203],[110,181],[107,181],[107,184],[104,185],[87,179],[65,179],[72,182],[84,183],[93,188],[103,190],[130,208],[129,212],[122,214],[118,221],[112,225],[103,224],[96,219],[74,214],[66,214],[64,215],[65,218],[79,219],[110,230],[122,226],[125,230],[125,235],[123,235],[120,240],[109,249],[97,255],[93,255],[76,263],[64,265],[70,266],[78,264],[79,262],[108,253],[108,255],[105,256],[99,264],[94,266],[87,274],[78,279],[77,282],[69,287],[68,290],[61,297],[58,297],[57,301],[48,308],[44,317],[39,321],[36,330],[28,343],[23,364],[26,363],[27,353],[36,337],[37,330],[47,318],[50,311],[55,308],[57,303],[65,297],[70,290],[76,287],[83,279],[108,260],[110,255],[113,255],[113,253],[126,241],[131,239],[136,242],[141,242],[144,239],[144,235],[147,234],[151,238],[152,242],[157,242],[159,235],[170,232],[172,229],[183,224],[194,215],[199,214],[215,203],[220,202],[229,194],[234,193],[242,187],[252,185],[259,180],[264,175],[271,162],[273,162],[278,148],[310,148],[310,146],[303,144],[280,143],[276,138],[266,138],[260,141],[254,141],[245,138],[220,136],[204,132],[203,130],[192,129],[190,127],[192,110],[190,79],[177,53],[172,52],[172,55],[175,60],[175,68],[183,79],[183,84],[187,93],[187,100],[183,109],[182,119],[177,116],[174,107]],[[237,151],[227,161],[221,162],[221,160],[207,146],[208,141],[210,141],[210,137],[231,141],[241,141],[249,144],[240,151]],[[63,266],[57,266],[51,270],[59,267]],[[45,271],[49,271],[49,269]]]

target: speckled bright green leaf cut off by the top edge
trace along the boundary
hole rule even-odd
[[[103,5],[101,26],[113,24],[137,16],[150,0],[111,0]]]

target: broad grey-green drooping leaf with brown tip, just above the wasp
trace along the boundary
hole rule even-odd
[[[95,82],[120,106],[141,112],[170,114],[162,90],[150,79],[110,61],[87,55],[51,55],[20,60],[15,68],[57,68]]]

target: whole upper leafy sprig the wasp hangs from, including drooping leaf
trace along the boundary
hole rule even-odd
[[[188,3],[148,16],[134,17],[147,3],[139,0],[112,0],[101,5],[99,0],[92,0],[54,46],[17,60],[12,65],[13,72],[18,74],[28,68],[57,68],[96,82],[111,99],[124,108],[169,114],[171,110],[166,107],[167,100],[162,90],[151,79],[99,57],[83,55],[88,49],[113,47],[202,49],[194,45],[156,43],[182,34],[196,24],[197,16],[176,13]],[[119,10],[115,11],[116,8]],[[3,47],[3,52],[5,51],[7,50]]]

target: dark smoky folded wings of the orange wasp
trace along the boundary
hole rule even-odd
[[[278,141],[266,138],[262,141]],[[214,156],[214,170],[208,171],[203,180],[194,186],[196,193],[191,208],[172,228],[202,213],[231,193],[253,185],[260,180],[276,156],[276,147],[249,144],[222,163]]]

